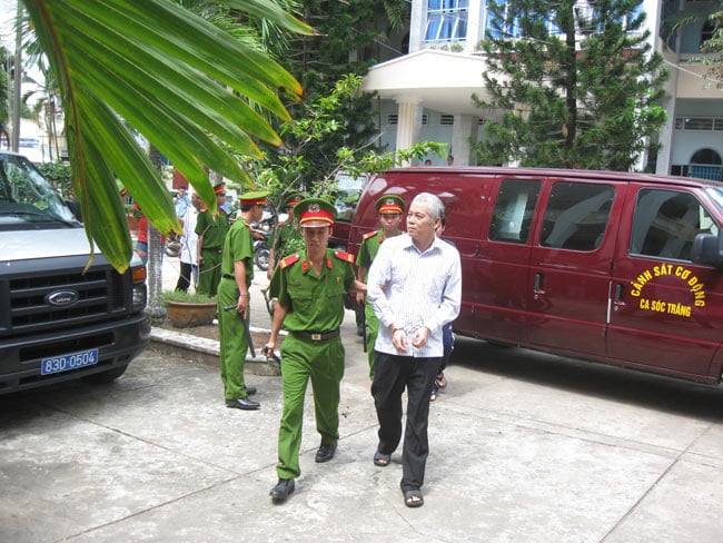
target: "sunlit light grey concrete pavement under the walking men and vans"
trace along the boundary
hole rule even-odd
[[[410,510],[400,451],[372,463],[354,332],[347,313],[337,456],[314,463],[309,392],[303,475],[284,505],[268,496],[279,377],[249,376],[261,409],[238,412],[215,367],[151,349],[109,386],[0,396],[0,541],[723,540],[720,388],[459,339],[432,405],[425,505]]]

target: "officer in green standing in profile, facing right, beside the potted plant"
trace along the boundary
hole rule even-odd
[[[258,402],[249,399],[256,388],[246,386],[244,362],[248,351],[249,294],[254,278],[254,238],[250,223],[264,215],[267,191],[246,192],[239,197],[241,215],[230,227],[224,243],[221,282],[218,286],[218,330],[220,334],[221,382],[226,406],[237,409],[258,409]]]

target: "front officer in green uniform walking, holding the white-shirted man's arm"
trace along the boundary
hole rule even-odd
[[[344,293],[365,290],[354,278],[354,257],[327,248],[335,209],[318,198],[301,200],[295,208],[306,249],[283,259],[275,274],[271,293],[278,299],[271,335],[264,347],[271,353],[281,325],[289,332],[281,345],[284,411],[279,425],[278,484],[271,488],[274,502],[294,492],[294,478],[301,473],[299,447],[304,421],[304,396],[309,378],[314,391],[316,430],[321,445],[316,462],[328,462],[339,440],[339,383],[344,375],[344,346],[339,326],[344,320]],[[278,279],[278,280],[277,280]]]

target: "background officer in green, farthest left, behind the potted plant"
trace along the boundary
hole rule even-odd
[[[208,208],[201,209],[196,221],[198,235],[198,293],[216,296],[218,283],[221,280],[221,251],[229,224],[226,211],[221,206],[226,203],[224,185],[214,187],[218,215],[214,217]]]

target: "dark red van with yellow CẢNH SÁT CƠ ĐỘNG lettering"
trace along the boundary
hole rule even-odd
[[[720,383],[723,186],[534,168],[402,168],[361,194],[348,248],[378,228],[376,200],[442,198],[462,256],[456,333]]]

